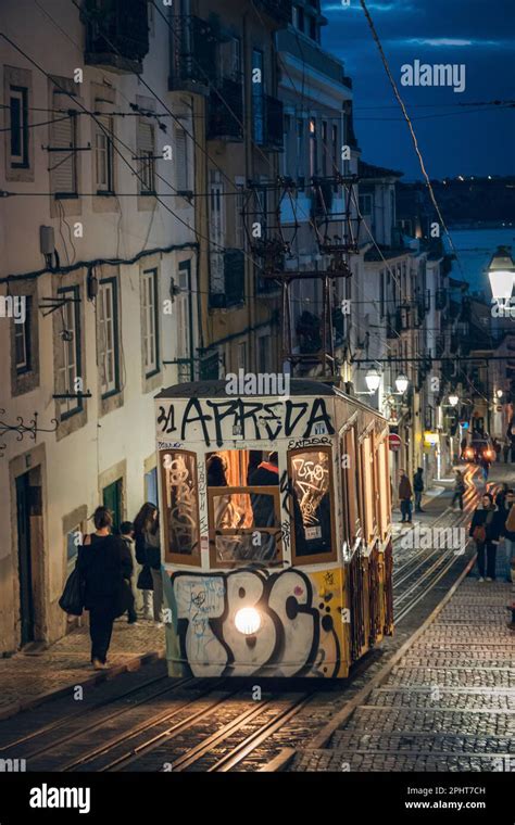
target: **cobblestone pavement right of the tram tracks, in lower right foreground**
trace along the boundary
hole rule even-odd
[[[511,586],[466,579],[324,749],[291,771],[515,772]]]

